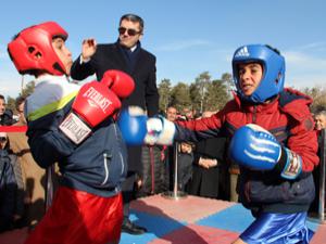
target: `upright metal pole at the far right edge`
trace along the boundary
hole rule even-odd
[[[322,131],[321,147],[321,172],[319,172],[319,205],[318,205],[318,219],[322,223],[325,222],[325,169],[326,169],[326,129]]]

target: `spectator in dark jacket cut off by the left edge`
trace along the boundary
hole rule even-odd
[[[17,183],[5,132],[0,132],[0,232],[10,230],[15,218]]]

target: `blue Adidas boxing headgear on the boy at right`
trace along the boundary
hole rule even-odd
[[[239,64],[258,62],[263,66],[263,78],[251,95],[244,95],[240,88]],[[277,50],[265,44],[248,44],[236,50],[233,59],[234,81],[241,99],[263,103],[283,91],[285,59]]]

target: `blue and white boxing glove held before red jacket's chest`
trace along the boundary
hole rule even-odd
[[[258,125],[239,128],[228,151],[230,158],[241,166],[256,170],[277,167],[286,179],[296,179],[302,170],[300,155],[281,146],[272,133]]]

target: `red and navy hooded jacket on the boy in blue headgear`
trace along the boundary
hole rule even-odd
[[[301,156],[302,174],[296,180],[286,180],[278,170],[259,171],[240,167],[239,201],[254,211],[305,211],[315,195],[311,171],[319,160],[314,121],[309,110],[311,103],[309,97],[292,89],[285,89],[265,104],[244,103],[235,95],[210,118],[178,121],[175,139],[231,138],[237,129],[247,124],[263,127],[281,145]]]

